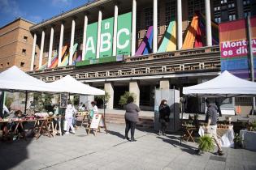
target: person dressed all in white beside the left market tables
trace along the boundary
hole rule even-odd
[[[74,126],[72,125],[73,115],[76,113],[76,109],[72,106],[71,100],[67,100],[67,108],[65,110],[65,120],[67,121],[67,132],[69,134],[69,129],[72,129],[72,133],[75,134]]]

